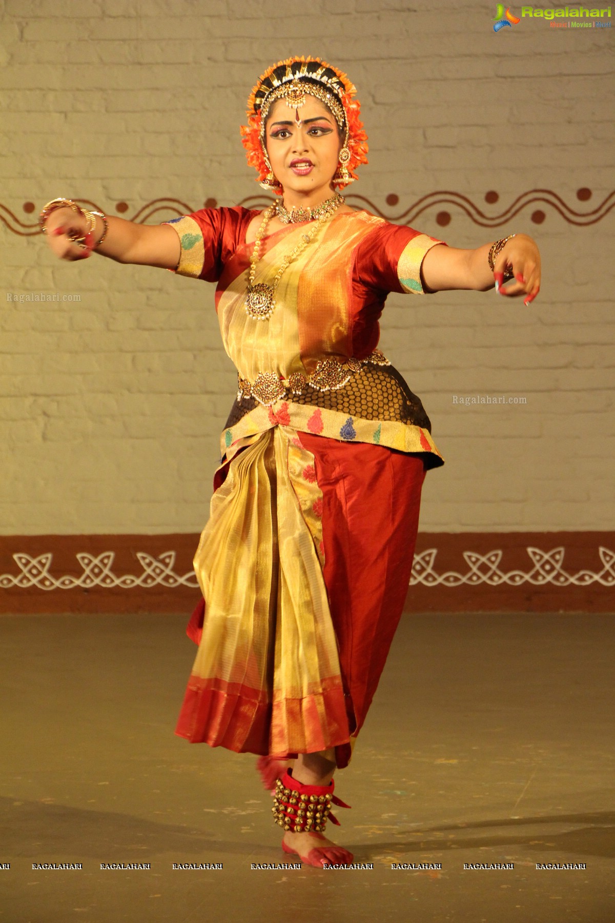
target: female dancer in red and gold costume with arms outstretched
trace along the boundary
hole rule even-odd
[[[349,763],[401,615],[427,469],[443,464],[419,398],[376,347],[389,292],[538,294],[534,241],[455,249],[352,210],[336,191],[366,163],[349,78],[317,58],[270,67],[248,101],[248,162],[278,198],[160,226],[54,199],[54,253],[217,282],[239,373],[210,518],[195,554],[198,653],[176,733],[261,755],[282,847],[348,863],[336,768]],[[506,287],[503,282],[510,284]]]

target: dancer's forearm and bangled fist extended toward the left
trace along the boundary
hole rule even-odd
[[[96,219],[92,233],[94,252],[117,263],[136,263],[141,266],[158,266],[174,270],[180,259],[180,241],[169,224],[136,224],[123,218],[107,218],[109,229],[101,244],[104,222]],[[72,236],[86,233],[84,215],[70,208],[54,209],[47,221],[47,240],[56,257],[75,260],[89,257],[92,250],[83,249],[72,241]]]

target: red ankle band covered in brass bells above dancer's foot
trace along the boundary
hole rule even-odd
[[[314,831],[323,833],[326,821],[339,826],[339,821],[331,813],[331,805],[349,808],[333,794],[333,779],[329,785],[303,785],[293,779],[290,769],[276,781],[273,792],[274,806],[271,809],[274,820],[284,830],[293,833]]]

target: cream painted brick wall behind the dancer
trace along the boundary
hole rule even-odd
[[[449,189],[497,214],[532,188],[596,208],[613,180],[611,30],[524,19],[495,35],[493,4],[409,6],[7,0],[0,202],[28,222],[25,201],[57,195],[111,213],[125,200],[128,214],[152,198],[255,195],[239,139],[248,91],[278,58],[320,54],[359,88],[370,165],[350,191],[382,209],[392,192],[400,213]],[[455,209],[444,231],[437,208],[415,222],[455,246],[523,231],[544,260],[528,309],[493,293],[387,304],[381,345],[446,459],[426,481],[424,530],[612,528],[613,212],[576,227],[542,208],[540,226],[532,207],[494,230]],[[0,233],[0,532],[198,531],[236,382],[213,286],[64,264],[40,237]],[[5,301],[34,291],[81,301]],[[453,404],[477,393],[527,402]]]

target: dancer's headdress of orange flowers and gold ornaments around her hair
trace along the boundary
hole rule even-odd
[[[348,186],[357,179],[354,171],[361,163],[367,163],[368,149],[367,135],[359,117],[361,103],[352,99],[356,92],[346,74],[320,58],[287,58],[266,70],[248,97],[248,124],[242,126],[242,145],[248,163],[258,171],[258,182],[263,188],[274,189],[278,195],[282,192],[266,152],[267,113],[271,105],[282,98],[291,106],[300,108],[305,93],[325,103],[345,136],[333,186]]]

